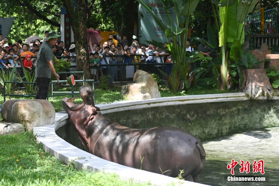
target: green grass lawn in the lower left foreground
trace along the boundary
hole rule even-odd
[[[46,153],[30,132],[0,136],[0,142],[0,185],[149,185],[62,164]]]

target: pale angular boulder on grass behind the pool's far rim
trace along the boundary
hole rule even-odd
[[[128,100],[161,98],[158,85],[152,75],[143,70],[137,70],[133,83],[122,86],[121,94],[126,95]]]

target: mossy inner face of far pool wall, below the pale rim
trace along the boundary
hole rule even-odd
[[[279,126],[279,101],[182,104],[107,113],[130,128],[174,126],[201,141],[258,128]]]

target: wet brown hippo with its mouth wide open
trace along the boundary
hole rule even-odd
[[[128,167],[199,182],[205,151],[199,139],[175,127],[133,129],[106,119],[95,107],[93,90],[79,89],[83,103],[63,98],[62,104],[85,148],[93,155]],[[142,160],[142,161],[141,161]]]

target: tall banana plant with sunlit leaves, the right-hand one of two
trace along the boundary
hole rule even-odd
[[[244,43],[244,24],[248,13],[252,12],[259,0],[212,0],[212,7],[219,9],[214,16],[216,25],[219,24],[219,47],[222,64],[220,65],[221,87],[228,86],[229,79],[229,58],[232,61],[239,61],[242,54],[241,45]],[[216,11],[217,12],[217,11]],[[219,21],[217,19],[219,18]],[[219,24],[218,24],[219,23]],[[227,43],[232,47],[229,52]],[[230,55],[229,55],[230,54]]]

